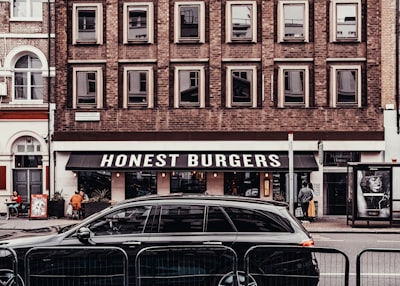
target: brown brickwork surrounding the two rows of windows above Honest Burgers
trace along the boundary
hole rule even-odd
[[[86,1],[88,2],[88,1]],[[100,1],[101,2],[101,1]],[[362,1],[363,26],[361,43],[329,42],[329,2],[310,1],[309,43],[277,43],[277,5],[275,1],[257,0],[258,41],[255,44],[225,42],[225,6],[227,1],[206,3],[206,42],[175,44],[174,2],[154,1],[155,43],[134,45],[122,43],[123,3],[104,0],[104,44],[78,46],[71,44],[72,1],[56,0],[57,37],[57,132],[179,132],[179,131],[383,131],[381,107],[381,11],[380,5]],[[84,3],[75,1],[74,3]],[[99,2],[96,2],[99,3]],[[68,5],[68,6],[67,6]],[[312,71],[310,108],[276,107],[276,59],[298,59]],[[329,107],[330,59],[363,66],[362,108]],[[307,59],[304,61],[304,59]],[[358,60],[355,60],[358,59]],[[365,60],[363,60],[365,59]],[[187,62],[185,62],[185,60]],[[96,63],[97,62],[97,63]],[[206,108],[172,107],[173,67],[179,64],[204,64],[207,71]],[[336,61],[333,61],[335,64]],[[105,64],[104,64],[105,63]],[[259,78],[258,108],[225,108],[225,69],[228,64],[257,65]],[[76,122],[72,109],[72,76],[74,66],[104,65],[104,108],[100,122]],[[153,65],[155,67],[155,107],[123,109],[122,67]],[[262,91],[264,94],[262,94]],[[80,111],[93,111],[92,109]]]

